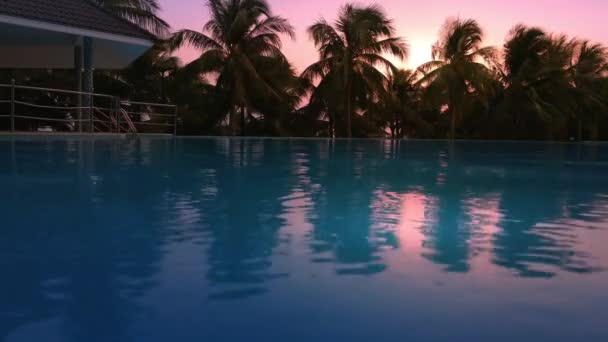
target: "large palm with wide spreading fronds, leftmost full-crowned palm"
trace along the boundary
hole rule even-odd
[[[218,90],[230,99],[232,133],[244,129],[247,111],[269,113],[297,103],[295,73],[281,52],[281,35],[295,36],[288,21],[273,15],[265,0],[207,0],[207,5],[211,19],[203,32],[181,30],[172,45],[202,50],[192,64],[201,74],[217,76]]]

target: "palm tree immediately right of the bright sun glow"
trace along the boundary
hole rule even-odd
[[[433,46],[433,60],[419,67],[423,75],[419,82],[427,87],[427,100],[448,105],[451,139],[456,136],[467,98],[483,98],[493,88],[493,73],[488,65],[494,63],[496,51],[482,47],[482,42],[483,30],[475,20],[448,19]]]

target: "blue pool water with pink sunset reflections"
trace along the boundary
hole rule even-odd
[[[608,145],[0,139],[0,340],[608,341]]]

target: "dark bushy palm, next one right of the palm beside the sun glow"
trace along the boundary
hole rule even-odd
[[[520,137],[539,130],[552,137],[556,122],[565,120],[564,113],[575,111],[567,72],[575,46],[563,35],[552,37],[536,27],[517,25],[509,33],[504,46],[502,109],[513,117]]]

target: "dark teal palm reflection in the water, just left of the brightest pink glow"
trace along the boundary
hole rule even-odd
[[[314,225],[313,261],[337,263],[338,274],[382,272],[386,268],[382,247],[395,241],[372,227],[376,171],[365,158],[368,146],[367,143],[332,142],[326,151],[311,155],[314,162],[308,165],[309,178],[318,185],[317,190],[311,191],[314,208],[311,211],[315,215],[309,218]],[[361,153],[362,158],[351,159],[353,153]],[[320,158],[321,155],[326,157]]]

